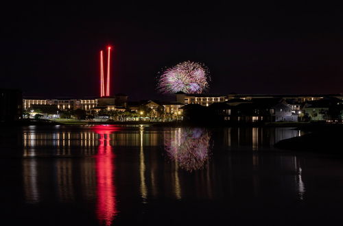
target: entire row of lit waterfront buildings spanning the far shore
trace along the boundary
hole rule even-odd
[[[56,117],[68,110],[94,112],[150,112],[152,118],[238,123],[327,121],[343,119],[343,95],[213,95],[176,93],[176,101],[128,101],[128,95],[85,99],[22,97],[19,90],[0,90],[0,122],[16,121],[35,109]],[[161,119],[161,118],[160,118]],[[160,120],[161,121],[161,120]]]

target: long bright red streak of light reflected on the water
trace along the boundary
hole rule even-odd
[[[95,155],[95,169],[97,174],[97,218],[105,225],[111,225],[117,215],[116,190],[115,190],[115,165],[110,146],[110,134],[118,131],[118,127],[98,125],[94,128],[99,134],[99,149]]]

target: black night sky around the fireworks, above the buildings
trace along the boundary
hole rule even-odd
[[[341,5],[113,2],[2,7],[0,87],[96,96],[112,45],[111,92],[130,99],[161,98],[158,71],[185,60],[209,68],[211,93],[343,92]]]

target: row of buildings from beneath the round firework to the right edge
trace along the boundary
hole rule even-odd
[[[340,95],[187,95],[176,93],[184,103],[185,120],[231,123],[327,121],[343,118]]]

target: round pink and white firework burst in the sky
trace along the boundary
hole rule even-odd
[[[182,62],[163,72],[157,89],[162,93],[202,93],[209,88],[208,74],[208,70],[197,62]]]

